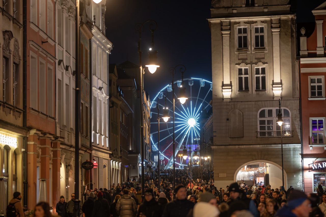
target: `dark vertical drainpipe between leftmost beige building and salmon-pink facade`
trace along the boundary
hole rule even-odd
[[[22,9],[23,9],[23,127],[27,126],[27,1],[22,1]],[[23,149],[25,151],[22,153],[23,160],[23,203],[24,206],[27,207],[27,137],[23,137]]]

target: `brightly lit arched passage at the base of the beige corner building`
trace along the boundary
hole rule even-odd
[[[256,160],[250,161],[241,167],[234,174],[234,181],[246,185],[271,185],[271,188],[279,188],[282,183],[282,167],[271,161]],[[287,175],[284,171],[284,187],[287,189]]]

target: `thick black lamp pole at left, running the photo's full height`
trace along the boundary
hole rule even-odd
[[[80,216],[79,199],[79,128],[80,128],[80,16],[79,0],[76,0],[76,85],[75,85],[75,206],[74,216]]]

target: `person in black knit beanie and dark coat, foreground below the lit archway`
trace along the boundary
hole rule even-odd
[[[230,199],[227,201],[228,205],[231,207],[235,206],[235,203],[241,202],[244,204],[245,209],[250,211],[255,217],[259,216],[255,202],[247,198],[244,191],[240,190],[238,183],[232,183],[229,187]]]

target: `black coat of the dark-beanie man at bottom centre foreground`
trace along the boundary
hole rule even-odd
[[[186,217],[188,212],[194,208],[194,203],[190,200],[173,200],[165,207],[162,217]]]

